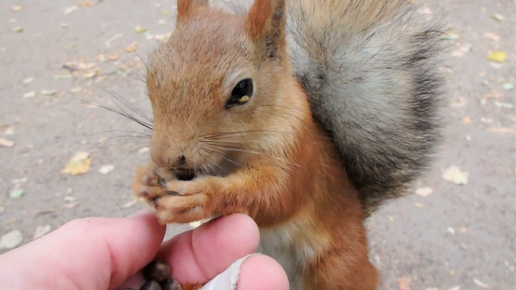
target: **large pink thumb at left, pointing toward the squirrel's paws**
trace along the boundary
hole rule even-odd
[[[113,289],[153,259],[165,230],[151,214],[75,220],[0,256],[0,284],[11,286],[6,289]]]

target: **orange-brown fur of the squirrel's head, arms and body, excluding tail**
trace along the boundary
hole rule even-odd
[[[284,1],[256,0],[244,18],[215,8],[192,13],[191,2],[179,1],[179,15],[195,24],[178,27],[152,60],[147,84],[155,120],[153,162],[137,170],[133,190],[155,205],[163,223],[246,213],[264,232],[284,233],[278,243],[299,252],[293,269],[286,269],[299,289],[376,289],[366,214],[335,145],[292,76],[284,27],[273,25],[283,21],[275,17],[281,17]],[[254,80],[253,98],[224,109],[245,77]],[[220,137],[226,131],[241,133]],[[207,138],[219,145],[206,145]],[[230,148],[223,156],[213,153],[223,144]],[[185,156],[182,166],[216,164],[230,172],[177,180],[168,168],[179,155]]]

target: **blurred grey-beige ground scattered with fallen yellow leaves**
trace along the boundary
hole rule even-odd
[[[413,194],[368,221],[371,260],[382,289],[514,290],[516,1],[441,4],[446,141]],[[146,207],[130,182],[150,132],[100,107],[152,115],[144,62],[174,15],[171,0],[1,1],[0,253]]]

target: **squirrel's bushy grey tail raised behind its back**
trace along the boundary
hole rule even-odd
[[[443,33],[408,0],[286,3],[295,75],[370,214],[405,195],[438,145]]]

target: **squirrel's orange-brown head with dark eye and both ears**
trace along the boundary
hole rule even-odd
[[[291,77],[285,0],[255,0],[245,15],[208,0],[177,7],[176,29],[148,68],[150,153],[159,166],[196,169],[253,148],[281,115],[280,81]]]

